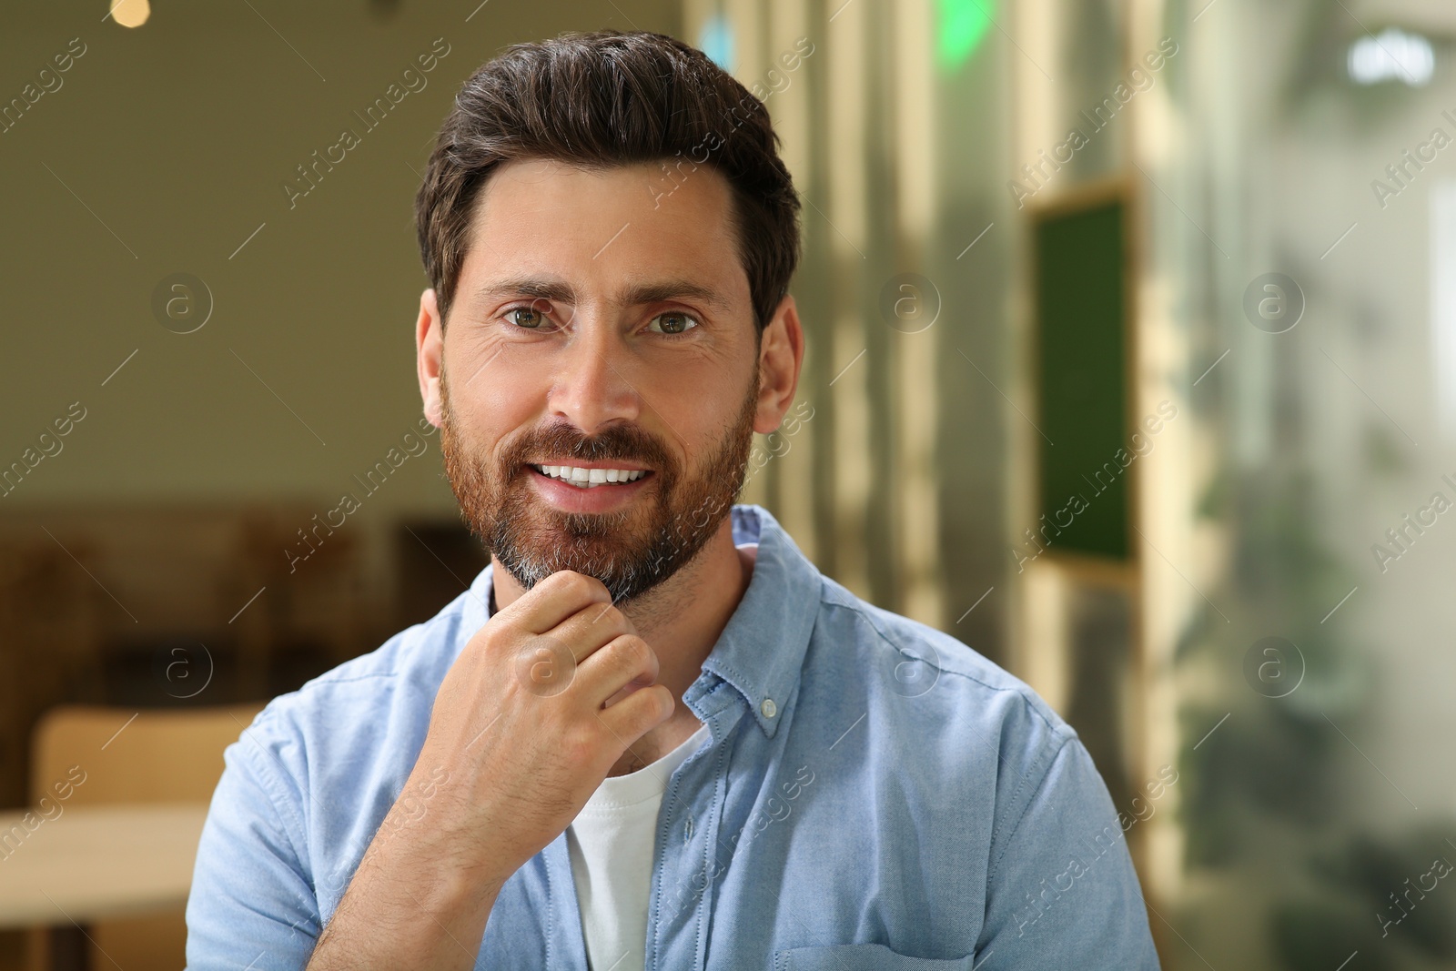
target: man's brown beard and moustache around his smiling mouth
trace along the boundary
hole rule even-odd
[[[446,476],[470,531],[524,588],[569,569],[594,576],[614,604],[642,597],[686,566],[732,510],[753,445],[759,373],[732,425],[702,467],[684,470],[673,453],[636,425],[582,435],[568,422],[518,434],[492,460],[464,441],[440,373],[440,450]],[[610,512],[562,512],[530,483],[530,463],[569,460],[636,464],[652,470],[641,495]]]

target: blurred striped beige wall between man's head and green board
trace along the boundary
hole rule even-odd
[[[805,199],[792,290],[811,421],[760,443],[776,457],[747,498],[855,594],[1005,659],[1008,507],[1029,431],[1008,403],[1029,406],[1010,326],[1021,223],[1003,188],[1021,55],[992,32],[941,70],[936,9],[684,0],[690,36],[718,13],[732,25],[734,74],[766,92]]]

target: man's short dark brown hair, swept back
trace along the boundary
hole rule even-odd
[[[419,255],[441,320],[464,263],[470,210],[496,166],[660,162],[654,195],[700,165],[727,178],[761,335],[799,261],[799,199],[778,143],[763,102],[670,36],[600,31],[508,47],[456,95],[415,197]]]

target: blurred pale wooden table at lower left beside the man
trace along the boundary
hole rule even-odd
[[[86,968],[93,922],[186,904],[207,805],[60,805],[33,831],[0,814],[0,929],[50,927],[51,967]]]

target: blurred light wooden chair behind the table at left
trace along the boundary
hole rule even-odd
[[[32,737],[31,799],[52,795],[71,766],[86,782],[67,799],[76,805],[199,802],[213,798],[223,774],[223,750],[237,740],[262,705],[151,709],[67,705],[48,710]],[[186,964],[183,911],[98,923],[90,967],[176,971]],[[47,935],[31,933],[29,968],[47,959]],[[98,951],[109,955],[102,956]]]

